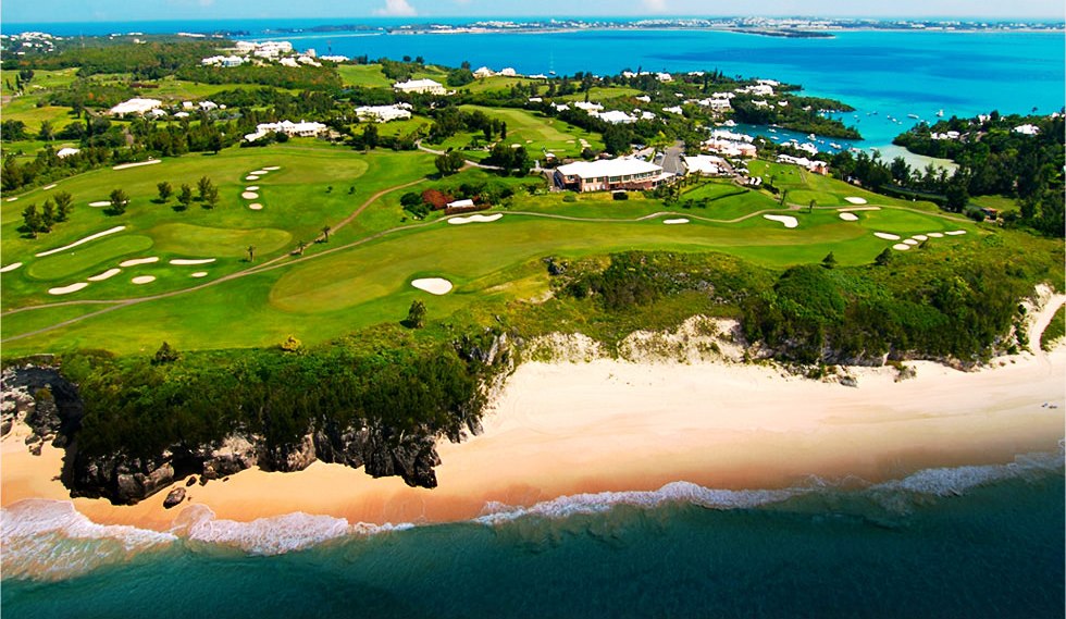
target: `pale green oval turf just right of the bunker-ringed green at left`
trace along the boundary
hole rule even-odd
[[[276,251],[293,240],[293,235],[277,228],[234,230],[185,223],[168,223],[149,231],[156,249],[183,258],[244,256],[249,245],[262,255]]]

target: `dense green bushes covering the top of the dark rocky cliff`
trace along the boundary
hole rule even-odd
[[[488,371],[460,345],[398,325],[315,348],[178,354],[164,344],[154,356],[83,351],[61,363],[85,401],[78,448],[140,458],[236,432],[268,448],[327,426],[458,438],[480,419]]]

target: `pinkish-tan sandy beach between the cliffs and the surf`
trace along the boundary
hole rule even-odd
[[[439,444],[434,490],[314,462],[298,473],[253,469],[194,485],[191,500],[171,510],[162,507],[166,491],[135,506],[73,503],[95,522],[156,531],[170,530],[189,506],[239,522],[295,512],[448,522],[491,504],[529,507],[677,481],[728,490],[783,488],[811,476],[876,483],[1061,449],[1066,348],[996,359],[977,372],[907,364],[917,375],[903,382],[892,368],[850,368],[858,386],[848,387],[772,366],[529,362],[486,412],[481,435]],[[18,429],[2,442],[0,504],[70,500],[57,478],[62,451],[46,445],[32,456],[24,437]]]

